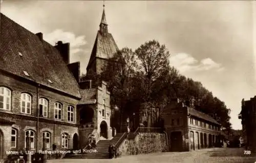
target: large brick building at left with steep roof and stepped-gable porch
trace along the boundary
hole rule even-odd
[[[42,149],[43,135],[48,150],[84,147],[92,134],[97,141],[111,138],[106,83],[92,88],[80,82],[80,62],[69,62],[69,43],[52,46],[42,33],[0,17],[0,160],[6,151],[25,150],[28,134],[33,151]]]

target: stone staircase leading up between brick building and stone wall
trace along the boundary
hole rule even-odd
[[[67,155],[64,158],[88,158],[88,159],[101,159],[109,158],[109,145],[116,145],[120,139],[122,142],[126,133],[117,133],[111,140],[100,140],[96,148],[97,152],[88,152],[88,153],[77,153],[72,155]],[[120,145],[119,142],[118,144]],[[81,149],[82,150],[82,149]]]

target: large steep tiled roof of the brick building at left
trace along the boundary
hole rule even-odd
[[[0,69],[80,98],[79,86],[54,46],[2,13],[0,20]]]

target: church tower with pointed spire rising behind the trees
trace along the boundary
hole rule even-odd
[[[87,65],[87,72],[93,71],[96,74],[100,74],[104,65],[108,63],[108,60],[114,56],[118,51],[118,46],[108,30],[108,24],[106,23],[106,15],[103,5],[103,13],[99,25],[99,30],[94,42],[91,57]]]

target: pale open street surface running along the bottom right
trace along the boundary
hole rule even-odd
[[[256,156],[244,155],[243,148],[214,148],[214,149],[202,149],[194,152],[167,152],[167,153],[154,153],[143,155],[123,156],[116,159],[60,159],[60,160],[48,160],[49,163],[80,163],[80,162],[133,162],[133,163],[149,163],[149,162],[195,162],[195,163],[207,163],[207,162],[243,162],[254,163]]]

